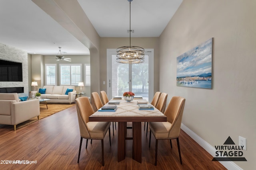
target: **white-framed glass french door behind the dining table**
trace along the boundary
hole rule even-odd
[[[145,61],[140,64],[116,62],[116,49],[107,49],[107,94],[108,98],[133,92],[148,101],[154,93],[154,50],[145,50]]]

